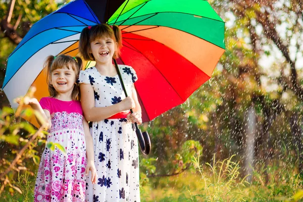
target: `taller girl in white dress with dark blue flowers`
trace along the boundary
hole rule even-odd
[[[139,167],[136,133],[132,123],[141,124],[141,108],[132,67],[119,65],[128,97],[122,89],[113,58],[118,58],[122,36],[118,26],[99,24],[82,30],[80,54],[95,61],[95,67],[79,75],[84,116],[92,122],[97,184],[87,180],[87,201],[139,202]],[[129,114],[133,109],[133,114]]]

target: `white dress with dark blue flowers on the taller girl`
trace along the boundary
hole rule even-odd
[[[119,65],[128,96],[137,80],[132,67]],[[99,74],[95,67],[81,71],[79,83],[91,84],[95,107],[108,107],[125,98],[119,76]],[[86,179],[86,201],[140,201],[138,143],[131,122],[126,119],[105,119],[90,124],[93,138],[96,184]]]

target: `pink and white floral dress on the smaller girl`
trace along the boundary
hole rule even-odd
[[[34,201],[85,201],[86,144],[83,131],[83,112],[80,102],[42,97],[42,109],[52,117],[47,142],[60,143],[45,147],[37,174]]]

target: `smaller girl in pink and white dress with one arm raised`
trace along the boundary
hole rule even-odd
[[[38,169],[34,201],[85,201],[85,178],[91,171],[91,182],[96,183],[92,137],[83,117],[76,84],[82,60],[79,57],[49,56],[44,67],[47,71],[49,97],[35,98],[29,105],[48,120],[47,142],[59,143],[45,147]],[[17,103],[20,99],[17,100]],[[40,124],[40,123],[39,123]],[[41,124],[40,124],[41,125]]]

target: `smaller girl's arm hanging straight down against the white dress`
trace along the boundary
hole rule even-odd
[[[86,142],[86,169],[85,169],[85,175],[88,175],[88,172],[91,172],[91,182],[93,184],[97,181],[97,171],[94,165],[94,154],[93,154],[93,143],[92,143],[92,137],[89,131],[89,126],[85,118],[83,117],[83,129],[84,129],[84,137]]]

